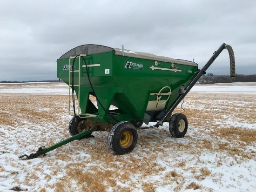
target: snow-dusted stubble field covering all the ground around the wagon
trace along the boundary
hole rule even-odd
[[[185,111],[175,110],[189,120],[181,139],[165,123],[138,129],[122,156],[110,151],[108,132],[94,132],[18,159],[69,137],[67,94],[59,82],[0,84],[0,192],[256,192],[255,83],[194,86]]]

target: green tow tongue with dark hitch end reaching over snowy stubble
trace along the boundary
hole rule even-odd
[[[59,143],[56,143],[52,146],[49,146],[49,147],[45,147],[45,146],[41,146],[35,153],[31,153],[30,155],[27,155],[27,154],[24,154],[24,155],[20,155],[19,156],[19,159],[21,158],[24,158],[26,157],[25,159],[23,160],[26,160],[26,159],[34,159],[34,158],[37,158],[38,156],[40,155],[44,155],[47,153],[47,152],[50,152],[60,146],[64,146],[66,145],[67,143],[71,142],[71,141],[74,141],[75,139],[79,139],[85,135],[88,135],[90,134],[91,132],[95,131],[97,129],[97,126],[92,126],[90,129],[84,131],[84,132],[81,132],[77,135],[74,135],[72,137],[69,137],[67,139],[64,139],[62,141],[60,141]]]

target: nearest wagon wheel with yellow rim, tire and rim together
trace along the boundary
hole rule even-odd
[[[137,140],[137,130],[129,122],[118,122],[108,133],[108,146],[118,155],[131,152],[135,148]]]

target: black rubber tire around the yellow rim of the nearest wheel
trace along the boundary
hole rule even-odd
[[[123,132],[129,131],[133,135],[133,140],[130,146],[124,148],[120,144],[120,138]],[[138,140],[138,133],[134,125],[129,122],[116,123],[108,133],[108,146],[110,149],[118,155],[123,155],[128,152],[132,152],[135,148]]]

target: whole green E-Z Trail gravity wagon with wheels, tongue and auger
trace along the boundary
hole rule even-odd
[[[173,137],[182,138],[188,120],[184,114],[172,112],[223,49],[229,51],[230,75],[235,76],[234,53],[226,44],[201,70],[195,62],[135,53],[123,46],[71,49],[57,60],[57,76],[69,86],[68,111],[74,117],[68,130],[72,137],[20,157],[37,157],[74,139],[93,137],[94,131],[108,131],[109,147],[121,155],[135,148],[137,128],[159,127],[164,122],[169,123]],[[149,122],[155,125],[141,127]]]

